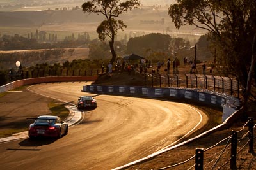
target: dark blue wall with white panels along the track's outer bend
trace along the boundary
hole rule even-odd
[[[222,121],[241,108],[241,101],[236,97],[202,89],[179,89],[160,87],[130,87],[118,85],[86,85],[84,92],[97,94],[115,94],[122,96],[154,97],[164,99],[192,100],[223,108]]]

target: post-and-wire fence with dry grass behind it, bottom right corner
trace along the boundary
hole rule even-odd
[[[246,125],[248,130],[246,131]],[[253,150],[253,129],[256,125],[253,125],[253,118],[249,118],[248,122],[244,124],[243,128],[239,131],[232,131],[230,136],[222,139],[221,141],[209,146],[206,149],[196,148],[195,155],[183,162],[173,164],[172,166],[166,166],[157,168],[160,169],[237,169],[244,164],[243,156],[246,154],[254,154]],[[211,154],[209,151],[212,150]],[[240,159],[242,161],[237,162]],[[246,169],[253,169],[252,162],[246,160]],[[252,161],[252,160],[251,160]],[[182,167],[181,167],[182,166]]]

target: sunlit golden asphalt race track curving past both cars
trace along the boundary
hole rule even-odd
[[[81,92],[83,85],[45,83],[29,89],[76,104],[87,94]],[[63,138],[0,143],[0,169],[114,169],[177,144],[207,122],[188,104],[108,95],[96,99],[97,108],[85,110]]]

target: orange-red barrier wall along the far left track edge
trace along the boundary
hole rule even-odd
[[[98,76],[61,76],[61,77],[40,77],[40,78],[28,78],[23,80],[13,81],[0,87],[0,93],[8,90],[21,87],[22,85],[33,85],[40,83],[54,83],[54,82],[68,82],[68,81],[95,81]]]

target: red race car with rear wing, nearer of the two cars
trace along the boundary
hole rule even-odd
[[[43,115],[27,119],[35,119],[35,122],[29,125],[29,138],[38,136],[61,138],[64,134],[68,134],[68,124],[61,121],[60,117]]]

